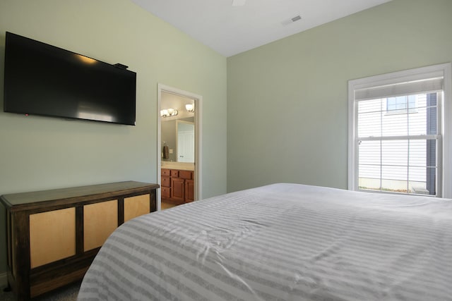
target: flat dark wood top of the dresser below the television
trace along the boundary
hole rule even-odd
[[[78,186],[73,188],[59,188],[52,190],[40,190],[33,192],[13,193],[2,195],[1,202],[6,207],[16,207],[27,204],[36,204],[37,202],[49,202],[62,199],[90,197],[114,197],[141,190],[152,190],[159,188],[157,184],[142,183],[135,181],[107,183],[98,185]]]

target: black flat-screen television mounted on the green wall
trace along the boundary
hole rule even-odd
[[[136,73],[6,32],[4,111],[135,125]]]

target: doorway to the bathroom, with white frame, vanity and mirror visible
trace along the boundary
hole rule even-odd
[[[201,199],[202,97],[166,85],[157,88],[157,209]]]

